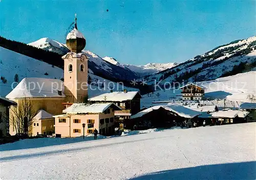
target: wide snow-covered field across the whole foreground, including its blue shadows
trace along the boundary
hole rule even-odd
[[[48,139],[24,140],[0,145],[0,175],[1,179],[255,179],[255,126],[174,129],[76,143],[53,139],[62,141],[55,146]],[[18,144],[22,149],[12,150]],[[38,148],[29,148],[33,144]]]

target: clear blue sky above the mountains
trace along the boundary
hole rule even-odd
[[[86,49],[101,57],[136,65],[183,62],[255,35],[255,8],[255,1],[1,0],[0,35],[65,43],[77,13]]]

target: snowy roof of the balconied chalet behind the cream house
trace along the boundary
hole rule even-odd
[[[112,92],[112,93],[105,93],[93,98],[90,98],[89,101],[127,101],[132,100],[136,95],[139,95],[138,91],[130,91],[130,92]],[[141,97],[141,96],[140,96]]]

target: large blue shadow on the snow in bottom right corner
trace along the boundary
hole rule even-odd
[[[131,179],[256,179],[256,161],[158,171]]]

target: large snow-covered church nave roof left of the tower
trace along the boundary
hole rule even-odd
[[[58,91],[61,92],[59,95]],[[59,79],[24,78],[6,96],[8,99],[16,98],[52,98],[65,97],[63,82]]]

